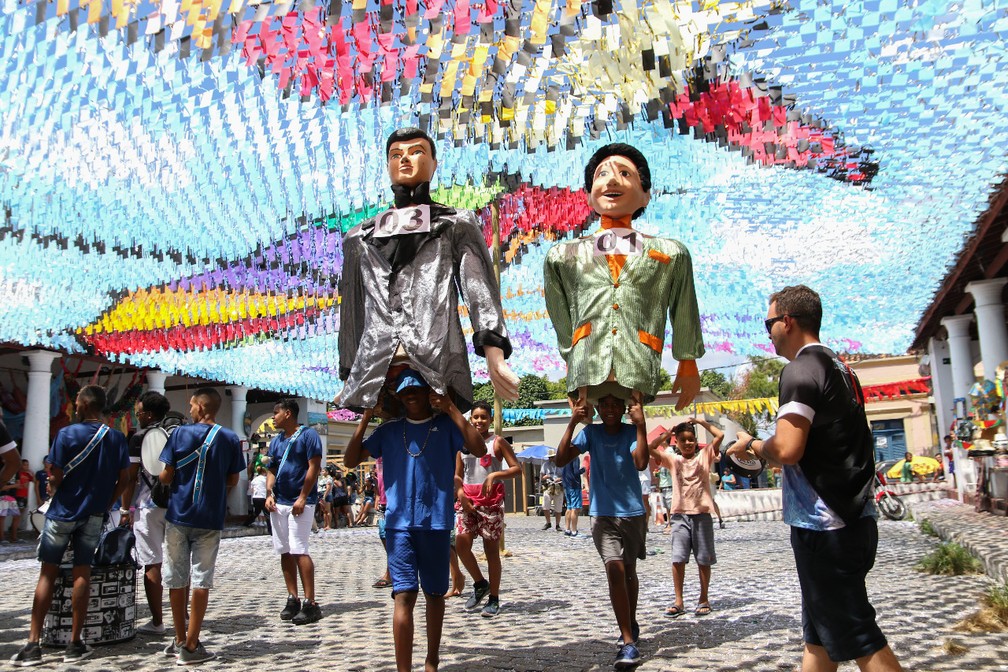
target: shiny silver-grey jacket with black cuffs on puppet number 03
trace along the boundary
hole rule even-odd
[[[483,232],[472,211],[434,204],[430,233],[410,234],[415,255],[395,263],[375,239],[374,218],[343,241],[340,279],[340,378],[337,403],[361,412],[378,403],[385,376],[401,345],[431,389],[451,391],[460,410],[473,405],[473,381],[459,317],[459,292],[473,325],[473,346],[511,355],[500,292]]]

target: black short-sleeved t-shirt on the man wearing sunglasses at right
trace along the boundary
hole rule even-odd
[[[875,457],[864,393],[850,367],[826,346],[801,350],[780,374],[778,416],[810,418],[798,465],[812,488],[848,525],[871,497]]]

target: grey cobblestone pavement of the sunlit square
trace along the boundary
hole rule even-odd
[[[442,667],[446,672],[607,670],[617,637],[604,570],[591,539],[541,531],[541,518],[509,516],[502,611],[482,619],[448,600]],[[583,530],[588,520],[582,519]],[[869,592],[883,631],[908,670],[1008,670],[1004,634],[968,635],[952,630],[976,611],[990,585],[986,576],[938,577],[912,565],[937,543],[916,523],[880,522],[880,547]],[[670,601],[668,537],[652,529],[649,544],[661,552],[639,564],[638,620],[641,672],[653,670],[794,670],[800,660],[797,579],[788,529],[779,522],[729,523],[716,530],[719,562],[711,587],[714,613],[677,620],[664,616]],[[479,545],[479,544],[477,544]],[[384,567],[374,528],[325,532],[312,538],[318,592],[325,618],[295,627],[277,614],[284,592],[279,563],[266,537],[222,543],[204,638],[219,658],[205,667],[268,672],[392,670],[392,606],[387,590],[371,587]],[[0,660],[8,659],[28,630],[33,560],[0,563]],[[470,582],[471,583],[471,582]],[[142,602],[142,587],[138,590]],[[697,574],[686,572],[686,603],[696,603]],[[147,617],[140,609],[140,623]],[[417,604],[414,668],[423,659],[422,597]],[[943,652],[953,640],[963,655]],[[166,638],[138,636],[99,647],[84,670],[159,670],[173,663],[160,653]],[[49,653],[45,668],[66,669]],[[0,664],[2,667],[2,664]],[[171,666],[173,668],[173,665]],[[177,669],[177,668],[174,668]],[[856,669],[848,664],[841,669]]]

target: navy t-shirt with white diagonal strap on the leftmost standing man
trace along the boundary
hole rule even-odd
[[[101,426],[101,422],[79,422],[60,429],[49,451],[52,466],[66,471]],[[118,429],[109,429],[87,459],[64,476],[45,517],[70,522],[104,514],[112,505],[112,493],[124,468],[129,468],[126,437]]]

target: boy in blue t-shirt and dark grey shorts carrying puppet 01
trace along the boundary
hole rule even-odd
[[[627,405],[612,395],[598,405],[602,424],[591,420],[584,406],[575,406],[563,438],[556,448],[562,466],[583,452],[592,457],[589,485],[592,538],[606,565],[609,599],[620,629],[620,650],[613,666],[628,669],[640,661],[637,639],[637,559],[646,557],[647,517],[638,473],[647,466],[647,427],[640,402],[630,402],[630,421],[622,421]],[[578,436],[579,423],[588,424]]]

